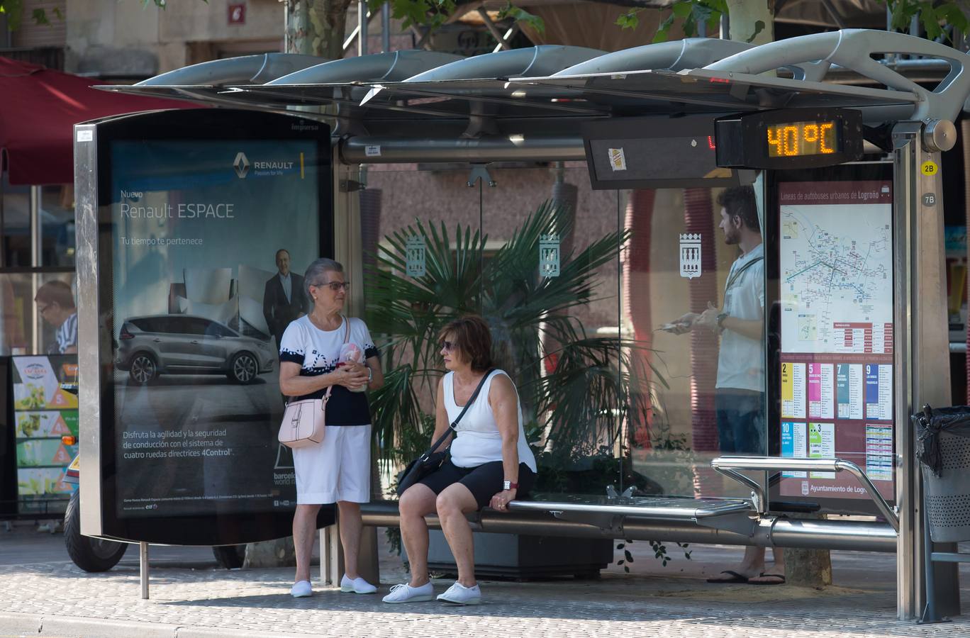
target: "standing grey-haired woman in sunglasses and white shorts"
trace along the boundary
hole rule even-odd
[[[304,280],[312,307],[282,335],[279,389],[294,400],[321,399],[328,388],[333,389],[323,442],[293,450],[297,571],[290,592],[296,597],[312,593],[309,560],[316,515],[321,504],[336,502],[346,569],[340,591],[373,593],[376,588],[357,571],[363,528],[360,503],[371,499],[371,409],[363,391],[380,388],[384,376],[367,326],[341,314],[350,286],[343,278],[343,267],[331,259],[317,259],[307,268]],[[347,341],[364,354],[363,363],[339,362],[347,330]]]

